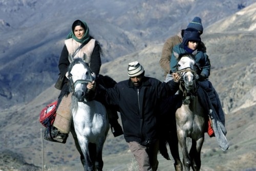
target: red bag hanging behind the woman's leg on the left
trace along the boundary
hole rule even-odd
[[[48,104],[44,109],[42,109],[40,113],[40,118],[39,122],[45,126],[45,127],[50,127],[56,117],[56,105],[57,105],[57,100]]]

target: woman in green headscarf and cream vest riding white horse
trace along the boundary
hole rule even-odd
[[[59,104],[61,103],[62,100],[66,100],[65,95],[69,94],[68,67],[71,63],[71,60],[76,57],[84,58],[85,62],[89,63],[91,71],[95,74],[95,77],[97,78],[99,75],[100,67],[101,67],[100,54],[101,54],[100,45],[98,44],[98,41],[95,40],[89,34],[89,27],[87,23],[81,20],[75,20],[75,22],[72,25],[72,31],[66,37],[65,46],[62,49],[60,59],[59,59],[58,67],[60,71],[60,77],[63,78],[63,83],[60,83],[60,87],[58,88],[59,90],[61,90],[61,92],[58,97],[57,108],[60,106]],[[64,105],[64,106],[67,106],[67,105]],[[65,111],[65,110],[67,111],[66,112],[67,114],[62,113],[60,115],[67,117],[67,115],[69,115],[68,109],[63,109],[61,111]],[[108,113],[110,118],[111,129],[114,136],[117,137],[119,135],[122,135],[123,134],[122,127],[118,123],[117,112],[115,110],[112,110],[110,107],[108,107]],[[65,143],[69,131],[68,129],[65,129],[67,131],[63,132],[63,128],[62,128],[63,125],[62,123],[57,123],[58,121],[57,117],[58,116],[56,116],[55,122],[53,124],[55,127],[53,127],[53,129],[51,130],[52,138],[53,139],[56,138],[55,140],[57,140],[57,142]],[[51,140],[51,138],[49,140]]]

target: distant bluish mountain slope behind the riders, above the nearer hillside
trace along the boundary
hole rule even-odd
[[[162,44],[197,15],[207,27],[252,3],[248,0],[157,3],[154,0],[78,0],[74,4],[72,1],[2,0],[0,30],[5,41],[0,42],[0,109],[31,101],[57,79],[63,39],[75,19],[86,20],[91,34],[102,46],[102,62],[108,62]]]

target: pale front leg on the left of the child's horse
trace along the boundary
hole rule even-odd
[[[184,165],[185,170],[188,171],[189,167],[191,165],[191,162],[190,162],[190,158],[189,158],[188,150],[187,150],[186,135],[179,128],[177,129],[177,133],[178,133],[178,139],[179,139],[179,143],[180,143],[182,155],[183,155],[183,165]]]

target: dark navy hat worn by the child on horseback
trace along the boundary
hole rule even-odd
[[[197,29],[187,28],[186,30],[184,30],[182,43],[186,46],[188,41],[190,40],[198,41],[200,44],[201,37]]]

